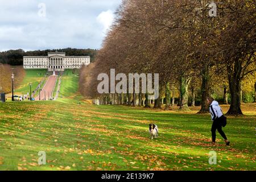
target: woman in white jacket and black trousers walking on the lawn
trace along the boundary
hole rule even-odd
[[[221,134],[221,136],[224,138],[226,142],[226,146],[229,146],[230,142],[228,138],[226,138],[226,135],[224,131],[222,131],[221,126],[221,119],[224,116],[222,113],[221,107],[218,105],[217,101],[214,101],[214,98],[208,97],[207,103],[210,106],[210,115],[212,115],[212,144],[215,144],[216,140],[216,130],[218,130],[218,133]]]

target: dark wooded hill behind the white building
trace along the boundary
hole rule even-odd
[[[23,65],[23,56],[47,56],[48,52],[65,52],[67,56],[90,56],[93,62],[97,53],[97,49],[75,49],[75,48],[65,48],[65,49],[47,49],[44,51],[27,51],[23,49],[9,50],[5,52],[0,52],[0,63],[10,64],[10,65]]]

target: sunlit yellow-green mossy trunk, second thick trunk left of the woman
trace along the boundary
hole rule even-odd
[[[180,110],[189,110],[188,108],[188,85],[190,78],[180,78]]]

